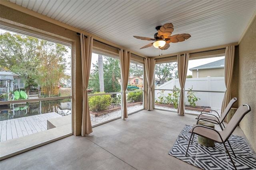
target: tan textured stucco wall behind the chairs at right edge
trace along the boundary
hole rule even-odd
[[[239,43],[239,105],[250,105],[240,127],[256,151],[256,17]]]

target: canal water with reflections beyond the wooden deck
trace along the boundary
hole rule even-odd
[[[21,105],[0,105],[0,121],[50,112],[56,112],[62,116],[70,115],[71,102],[56,100],[38,101],[34,103],[24,103]]]

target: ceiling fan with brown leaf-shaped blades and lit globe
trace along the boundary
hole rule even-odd
[[[154,41],[141,47],[140,49],[151,47],[153,45],[156,48],[165,50],[170,47],[171,42],[183,42],[191,37],[190,34],[175,34],[171,36],[174,30],[172,23],[166,23],[163,26],[157,26],[156,30],[158,32],[154,35],[154,38],[134,36],[134,38],[138,38],[140,40]]]

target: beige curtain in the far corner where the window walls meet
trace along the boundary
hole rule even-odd
[[[152,96],[152,87],[154,85],[154,75],[155,75],[155,65],[156,60],[149,58],[144,58],[144,66],[146,71],[146,79],[148,82],[148,97],[147,97],[147,110],[153,110],[153,96]]]

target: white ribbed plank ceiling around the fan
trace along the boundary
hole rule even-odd
[[[146,56],[155,27],[171,22],[184,42],[170,43],[163,55],[239,42],[256,12],[256,0],[9,0]]]

